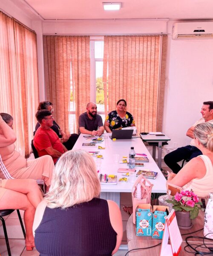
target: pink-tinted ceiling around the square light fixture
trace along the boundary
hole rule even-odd
[[[212,20],[213,0],[121,0],[119,11],[104,11],[109,0],[12,0],[33,19]],[[119,2],[115,0],[114,2]]]

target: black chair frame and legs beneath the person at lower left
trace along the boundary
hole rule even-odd
[[[7,252],[8,252],[9,256],[11,256],[11,251],[10,251],[10,245],[9,245],[9,240],[8,240],[8,236],[7,236],[6,224],[5,224],[3,216],[9,215],[12,212],[14,212],[13,209],[0,210],[0,220],[2,221],[2,226],[3,226],[3,230],[4,230],[4,237],[5,237]],[[17,210],[17,214],[18,214],[18,218],[19,218],[19,221],[20,221],[20,224],[21,224],[22,231],[23,231],[24,239],[26,239],[26,233],[25,233],[24,225],[23,225],[19,210]]]

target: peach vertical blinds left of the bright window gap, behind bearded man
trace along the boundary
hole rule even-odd
[[[89,37],[44,35],[43,45],[46,98],[55,105],[56,122],[68,132],[72,89],[75,118],[70,121],[76,132],[90,98]]]

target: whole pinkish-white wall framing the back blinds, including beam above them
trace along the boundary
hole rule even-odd
[[[40,100],[45,99],[42,34],[137,34],[168,32],[167,83],[164,99],[163,131],[171,138],[167,148],[190,142],[187,129],[201,117],[203,101],[213,100],[213,40],[172,40],[174,22],[167,21],[70,21],[30,20],[11,0],[2,0],[0,8],[37,33]]]

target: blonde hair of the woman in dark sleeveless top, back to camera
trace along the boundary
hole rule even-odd
[[[67,208],[92,200],[100,191],[92,157],[86,151],[71,150],[58,160],[45,200],[49,208]]]

